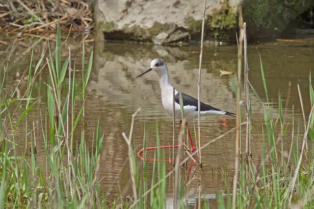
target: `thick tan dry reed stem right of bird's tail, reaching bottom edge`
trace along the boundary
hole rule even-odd
[[[241,101],[241,60],[242,60],[242,45],[243,45],[243,22],[242,22],[242,8],[238,6],[239,13],[239,52],[238,52],[238,62],[237,62],[237,94],[236,94],[236,138],[235,138],[235,175],[233,182],[233,197],[232,197],[232,207],[236,208],[236,188],[237,188],[237,179],[238,179],[238,169],[239,169],[239,147],[240,143],[240,101]]]

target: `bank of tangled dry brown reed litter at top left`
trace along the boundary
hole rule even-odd
[[[86,0],[7,0],[0,3],[0,32],[24,36],[50,32],[60,21],[62,29],[84,32],[94,28],[93,12]]]

